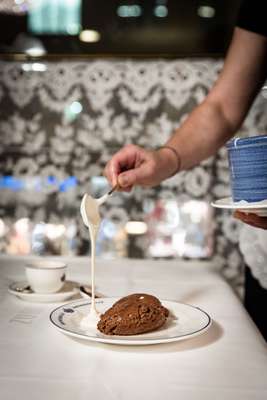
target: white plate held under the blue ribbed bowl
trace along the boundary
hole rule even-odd
[[[257,214],[260,217],[267,216],[267,200],[257,201],[255,203],[248,203],[247,201],[234,202],[231,197],[216,200],[211,203],[215,208],[224,208],[228,210],[238,210],[245,213]]]

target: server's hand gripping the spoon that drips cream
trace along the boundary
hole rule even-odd
[[[134,185],[156,186],[177,169],[175,154],[168,148],[145,150],[129,144],[119,150],[107,163],[104,175],[112,186],[123,191]]]

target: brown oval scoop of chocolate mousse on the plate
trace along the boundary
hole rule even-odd
[[[97,328],[106,335],[138,335],[160,328],[168,315],[155,296],[135,293],[121,298],[102,314]]]

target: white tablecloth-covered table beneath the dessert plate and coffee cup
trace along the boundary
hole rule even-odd
[[[98,260],[97,289],[104,295],[147,292],[199,306],[214,320],[191,340],[125,347],[67,337],[49,322],[58,303],[7,293],[9,283],[25,277],[24,262],[0,258],[1,400],[267,399],[265,342],[210,264]],[[69,279],[89,281],[89,259],[68,264]]]

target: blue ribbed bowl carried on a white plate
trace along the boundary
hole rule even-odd
[[[226,146],[233,200],[266,200],[267,136],[236,138]]]

